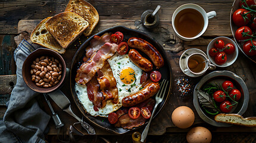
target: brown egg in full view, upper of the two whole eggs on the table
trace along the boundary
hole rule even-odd
[[[171,119],[175,126],[181,129],[186,129],[193,125],[195,114],[191,108],[187,106],[181,106],[175,108],[175,110],[172,112]]]

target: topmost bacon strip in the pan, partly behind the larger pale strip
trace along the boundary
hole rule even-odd
[[[110,42],[110,33],[104,33],[104,35],[101,37],[94,36],[94,38],[90,41],[90,45],[85,49],[86,57],[90,58],[92,54],[98,51],[98,49],[100,49],[100,47],[103,46],[106,42]]]

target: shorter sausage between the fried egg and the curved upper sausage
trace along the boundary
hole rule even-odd
[[[146,72],[153,70],[153,64],[146,58],[142,57],[136,49],[130,49],[128,55],[129,60],[131,60],[136,66],[140,67],[141,70]]]

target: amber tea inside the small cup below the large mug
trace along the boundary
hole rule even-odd
[[[205,69],[205,62],[203,61],[205,61],[205,59],[203,59],[200,55],[192,55],[187,61],[187,64],[191,71],[194,73],[200,73]]]

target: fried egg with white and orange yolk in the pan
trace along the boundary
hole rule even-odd
[[[107,61],[112,69],[113,77],[116,79],[116,87],[118,88],[118,104],[113,104],[109,100],[105,107],[98,108],[98,111],[95,111],[93,108],[94,105],[88,98],[87,86],[80,85],[78,83],[75,85],[75,91],[79,100],[87,113],[91,114],[91,116],[107,117],[109,113],[112,113],[122,107],[122,99],[124,97],[140,91],[140,78],[143,71],[129,60],[128,54],[119,55],[118,52],[116,52],[116,54]]]

